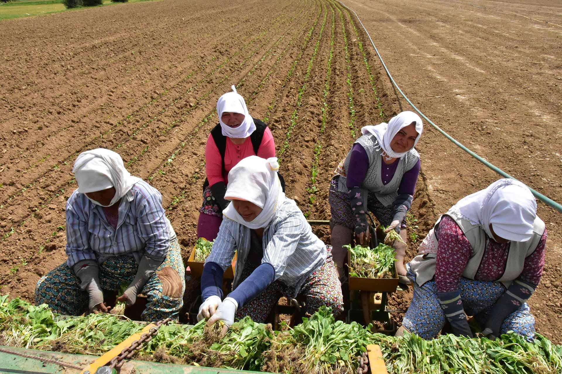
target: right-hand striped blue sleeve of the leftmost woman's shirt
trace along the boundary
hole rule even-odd
[[[140,204],[137,207],[137,227],[144,241],[144,251],[150,257],[165,258],[170,249],[170,236],[162,195],[153,193],[144,198],[137,194],[135,204]]]

